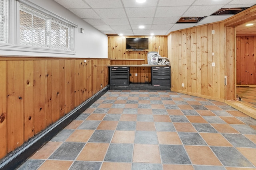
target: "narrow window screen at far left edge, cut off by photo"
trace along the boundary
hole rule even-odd
[[[0,42],[8,42],[8,3],[0,0]]]

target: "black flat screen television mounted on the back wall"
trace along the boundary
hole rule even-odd
[[[147,50],[148,38],[126,38],[126,50]]]

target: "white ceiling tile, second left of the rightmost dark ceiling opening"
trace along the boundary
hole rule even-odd
[[[180,17],[189,6],[177,7],[158,7],[155,17]]]

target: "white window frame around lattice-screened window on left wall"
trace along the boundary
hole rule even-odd
[[[53,49],[53,48],[44,48],[44,47],[36,47],[36,46],[28,46],[20,44],[20,3],[30,6],[35,10],[42,12],[54,20],[60,21],[66,25],[70,25],[72,27],[72,49],[73,50],[63,50],[63,49]],[[21,52],[33,52],[33,53],[54,53],[54,54],[72,54],[75,55],[75,28],[77,25],[72,23],[65,18],[52,13],[48,10],[42,9],[41,7],[33,4],[32,2],[28,2],[27,0],[9,0],[9,25],[8,25],[8,43],[0,43],[0,51],[21,51]]]

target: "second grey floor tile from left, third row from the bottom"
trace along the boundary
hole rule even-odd
[[[110,143],[114,131],[96,130],[88,142]]]

